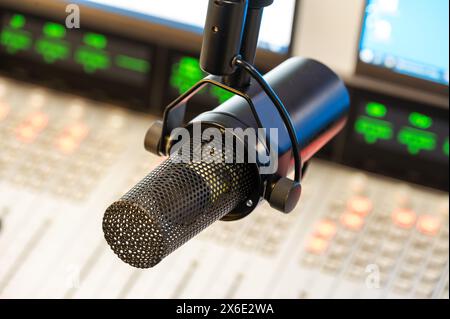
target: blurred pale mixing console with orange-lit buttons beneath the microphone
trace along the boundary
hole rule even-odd
[[[156,268],[105,208],[161,159],[146,115],[0,78],[0,298],[449,298],[449,197],[314,161],[298,209],[218,222]]]

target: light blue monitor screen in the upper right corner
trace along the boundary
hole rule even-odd
[[[448,0],[368,0],[360,62],[448,86],[448,17]]]

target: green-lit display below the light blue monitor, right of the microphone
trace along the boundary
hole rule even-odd
[[[448,161],[448,121],[379,101],[364,102],[360,110],[354,131],[365,144]]]

